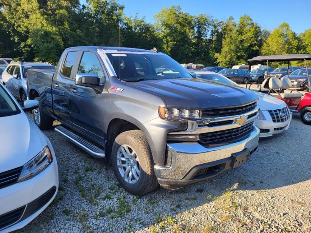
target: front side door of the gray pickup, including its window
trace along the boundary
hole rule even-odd
[[[83,51],[79,59],[75,75],[78,74],[96,74],[100,80],[100,86],[86,87],[71,85],[72,92],[69,96],[69,102],[76,107],[70,111],[71,121],[76,130],[81,131],[95,140],[104,142],[104,69],[99,57],[92,51]]]

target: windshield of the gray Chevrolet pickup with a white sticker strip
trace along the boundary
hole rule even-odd
[[[167,55],[107,53],[117,77],[124,81],[193,78],[178,62]]]

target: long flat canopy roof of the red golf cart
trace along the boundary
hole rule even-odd
[[[257,56],[252,59],[248,59],[247,61],[252,62],[261,62],[261,61],[269,61],[269,62],[278,62],[278,61],[304,61],[311,60],[311,54],[286,54],[286,55],[267,55],[267,56]]]

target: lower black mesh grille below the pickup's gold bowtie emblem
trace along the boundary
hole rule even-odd
[[[220,130],[200,134],[199,140],[203,144],[226,144],[234,141],[241,141],[253,131],[253,122],[238,128]]]

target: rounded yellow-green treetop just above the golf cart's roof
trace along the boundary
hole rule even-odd
[[[299,52],[299,39],[287,23],[282,23],[272,31],[263,44],[264,55],[295,54]]]

